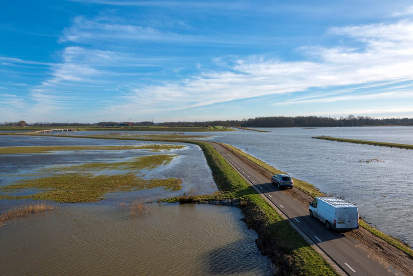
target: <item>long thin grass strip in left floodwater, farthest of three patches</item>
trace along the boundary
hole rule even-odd
[[[16,154],[16,153],[46,153],[51,151],[75,151],[75,150],[129,150],[129,149],[152,149],[171,150],[181,149],[184,145],[175,144],[142,144],[142,145],[85,145],[85,146],[2,146],[0,154]]]

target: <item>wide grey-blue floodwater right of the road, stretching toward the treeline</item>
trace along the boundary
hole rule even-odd
[[[331,136],[413,144],[413,127],[256,129],[270,132],[187,132],[185,135],[212,136],[207,139],[234,145],[313,184],[325,194],[342,196],[357,204],[367,222],[413,245],[413,150],[311,138]],[[86,135],[86,132],[75,133]]]

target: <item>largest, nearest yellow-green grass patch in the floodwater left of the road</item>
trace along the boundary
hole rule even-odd
[[[2,186],[0,199],[53,200],[55,202],[96,202],[109,192],[132,191],[164,187],[169,191],[182,189],[182,180],[177,178],[144,180],[133,174],[98,175],[91,173],[67,173],[37,179],[21,180]],[[37,189],[38,193],[13,196],[22,189]]]

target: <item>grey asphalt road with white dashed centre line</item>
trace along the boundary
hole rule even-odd
[[[349,275],[400,275],[387,264],[370,258],[355,239],[328,231],[323,223],[310,217],[308,205],[294,198],[289,189],[277,189],[268,176],[252,168],[244,157],[218,143],[211,144]]]

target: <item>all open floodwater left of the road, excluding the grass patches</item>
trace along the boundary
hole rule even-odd
[[[156,142],[0,137],[0,146],[142,143]],[[0,186],[36,177],[33,174],[49,166],[118,162],[154,154],[177,156],[167,165],[140,171],[139,177],[183,180],[183,188],[176,192],[158,187],[111,193],[100,202],[54,204],[54,211],[5,223],[0,226],[0,275],[272,275],[271,262],[255,244],[257,234],[240,220],[243,216],[238,208],[146,203],[143,214],[131,216],[133,201],[156,202],[184,192],[217,191],[202,150],[194,144],[185,146],[160,152],[133,149],[0,155]],[[27,201],[0,200],[0,213],[24,203]]]

